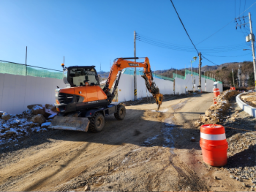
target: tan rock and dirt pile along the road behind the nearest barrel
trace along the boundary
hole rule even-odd
[[[216,98],[217,104],[210,106],[206,110],[203,116],[200,116],[200,120],[194,122],[194,126],[198,127],[202,124],[216,124],[224,120],[226,113],[230,109],[229,100],[238,95],[239,92],[236,90],[226,90]]]

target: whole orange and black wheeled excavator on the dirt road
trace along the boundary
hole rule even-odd
[[[63,81],[66,88],[55,90],[58,111],[49,128],[64,130],[88,130],[100,132],[105,124],[105,116],[114,114],[117,120],[123,120],[126,109],[123,105],[111,104],[115,97],[118,82],[124,68],[143,67],[142,78],[148,91],[153,95],[158,105],[162,104],[163,95],[152,81],[152,71],[147,57],[144,63],[134,62],[136,58],[117,58],[110,70],[104,88],[100,88],[100,81],[95,66],[70,66],[63,68]],[[112,90],[112,91],[111,91]]]

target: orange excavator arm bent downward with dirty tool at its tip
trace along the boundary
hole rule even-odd
[[[152,71],[150,69],[150,63],[149,63],[148,58],[145,57],[144,63],[134,62],[134,61],[130,61],[128,59],[139,59],[139,58],[117,58],[116,60],[114,60],[114,64],[112,65],[108,79],[106,81],[106,85],[103,88],[103,91],[106,93],[109,102],[111,103],[115,96],[115,91],[118,86],[118,82],[119,82],[122,70],[124,68],[129,68],[129,67],[142,67],[143,73],[144,73],[142,75],[142,78],[144,78],[144,80],[145,80],[145,84],[146,84],[148,91],[155,98],[156,104],[158,104],[158,109],[159,109],[160,105],[162,104],[163,94],[160,94],[159,88],[152,81],[153,76],[152,76]],[[117,75],[118,75],[118,77],[116,78]],[[112,88],[113,84],[114,84],[114,88],[111,93],[110,89]]]

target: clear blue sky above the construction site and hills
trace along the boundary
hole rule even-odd
[[[196,48],[215,64],[252,61],[251,51],[242,50],[251,49],[244,37],[248,27],[236,30],[231,21],[254,2],[173,0]],[[29,65],[61,70],[65,56],[66,66],[95,65],[100,70],[101,64],[108,71],[110,60],[133,56],[134,30],[158,42],[193,49],[170,0],[0,0],[0,7],[0,60],[25,63],[28,46]],[[248,12],[255,33],[256,4],[244,16]],[[152,70],[188,67],[197,56],[196,50],[172,50],[141,41],[136,42],[136,50],[137,56],[149,58]],[[203,59],[205,65],[214,64]]]

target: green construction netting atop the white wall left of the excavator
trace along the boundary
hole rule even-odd
[[[9,62],[0,62],[0,73],[62,79],[62,72],[39,69],[36,67],[28,67],[28,66],[26,67],[25,65],[22,65],[22,64],[15,64],[15,63],[9,63]]]

